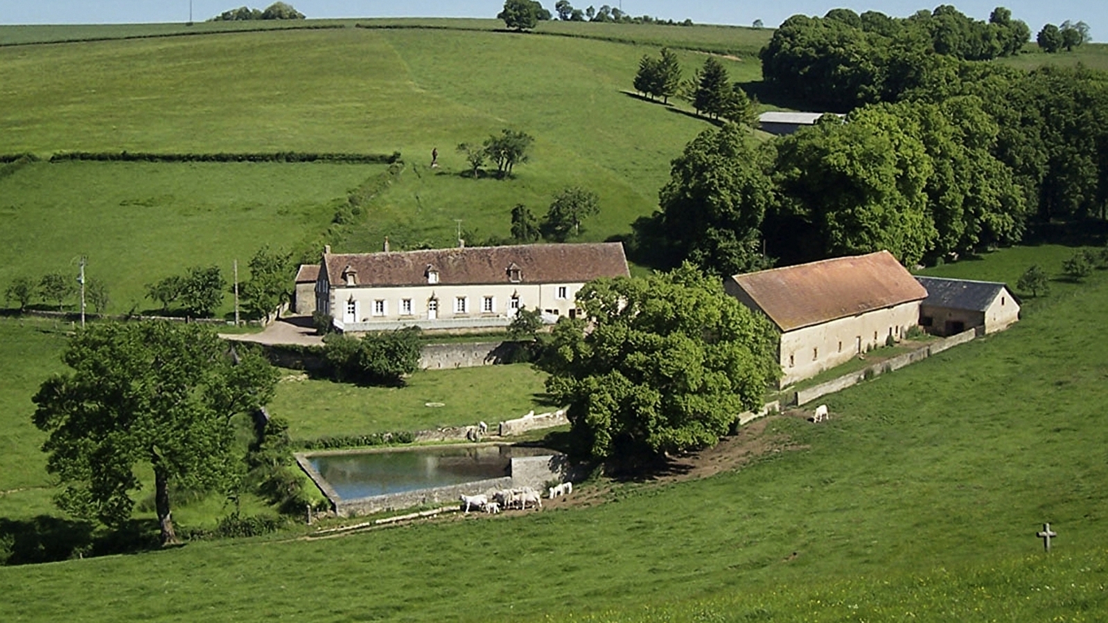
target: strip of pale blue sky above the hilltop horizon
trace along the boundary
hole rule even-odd
[[[192,0],[197,21],[227,9],[248,4],[265,8],[271,0]],[[555,0],[542,0],[553,11]],[[620,0],[573,1],[584,9],[608,3],[618,7]],[[188,19],[189,0],[0,0],[0,23],[126,23],[179,22]],[[376,17],[443,17],[491,18],[503,0],[293,0],[289,2],[309,18],[376,18]],[[783,0],[780,2],[743,2],[740,0],[623,0],[623,10],[633,15],[699,23],[749,25],[756,19],[767,27],[781,23],[794,13],[822,15],[829,9],[848,7],[858,12],[876,10],[894,17],[905,17],[919,9],[933,9],[942,2],[931,0]],[[1108,0],[962,0],[951,2],[962,12],[977,19],[988,19],[997,4],[1012,9],[1035,32],[1047,22],[1065,20],[1089,24],[1095,41],[1108,40]]]

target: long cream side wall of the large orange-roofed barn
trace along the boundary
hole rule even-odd
[[[890,335],[900,341],[920,321],[920,301],[910,301],[863,314],[840,318],[781,334],[781,386],[883,346]]]

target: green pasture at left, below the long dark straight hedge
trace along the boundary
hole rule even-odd
[[[73,272],[107,283],[109,312],[156,305],[143,285],[194,264],[232,279],[265,243],[289,249],[325,229],[378,165],[34,164],[0,179],[0,284]],[[72,302],[72,299],[71,299]],[[224,311],[230,310],[226,297]]]

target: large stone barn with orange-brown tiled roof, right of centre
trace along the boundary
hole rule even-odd
[[[889,251],[729,277],[724,288],[781,332],[781,386],[899,341],[927,297]]]

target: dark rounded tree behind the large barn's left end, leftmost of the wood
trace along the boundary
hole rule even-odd
[[[658,193],[655,216],[681,259],[719,276],[768,268],[759,249],[759,228],[773,203],[767,159],[731,123],[685,146]]]

